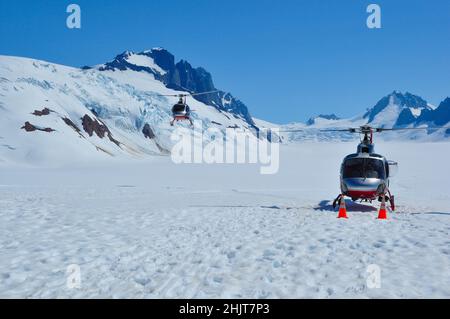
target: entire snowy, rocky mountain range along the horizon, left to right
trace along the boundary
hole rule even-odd
[[[215,138],[206,131],[211,127],[252,132],[280,127],[303,130],[284,134],[285,142],[347,140],[353,137],[320,129],[363,124],[429,128],[403,133],[403,139],[436,141],[450,136],[448,129],[431,129],[450,122],[450,98],[434,107],[417,95],[394,91],[350,119],[322,114],[307,123],[280,126],[253,118],[242,101],[215,87],[207,70],[186,60],[176,62],[162,48],[126,51],[110,62],[82,68],[0,56],[0,162],[168,154],[173,145],[170,110],[177,98],[163,95],[209,91],[216,92],[188,99],[195,110],[193,119],[203,123],[206,139]]]

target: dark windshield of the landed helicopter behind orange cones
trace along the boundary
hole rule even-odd
[[[378,178],[386,176],[384,162],[374,158],[350,158],[344,163],[344,178]]]

